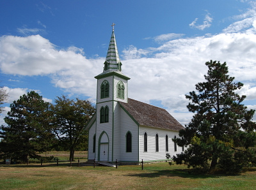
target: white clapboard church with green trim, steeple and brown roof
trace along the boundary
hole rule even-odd
[[[113,24],[114,25],[114,24]],[[88,160],[124,163],[166,160],[184,151],[172,141],[184,127],[163,108],[128,98],[128,80],[114,27],[103,72],[97,79],[96,112],[86,125]]]

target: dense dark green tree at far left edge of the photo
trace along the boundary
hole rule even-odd
[[[4,118],[8,126],[1,126],[1,157],[27,161],[39,158],[38,153],[49,150],[54,135],[51,133],[50,104],[34,91],[20,96],[10,105]]]

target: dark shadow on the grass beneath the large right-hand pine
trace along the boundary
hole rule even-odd
[[[145,170],[147,171],[147,170]],[[207,173],[193,173],[192,169],[173,169],[173,170],[154,170],[150,173],[131,173],[126,176],[131,177],[182,177],[182,178],[190,178],[190,179],[207,179],[207,178],[219,178],[221,176],[230,176],[225,174],[207,174]],[[241,175],[241,173],[234,174],[232,176]]]

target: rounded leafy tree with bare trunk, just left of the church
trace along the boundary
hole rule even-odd
[[[68,99],[66,96],[57,97],[52,105],[56,117],[54,133],[63,145],[70,150],[70,160],[74,161],[74,152],[81,143],[87,143],[87,122],[95,112],[90,101]]]

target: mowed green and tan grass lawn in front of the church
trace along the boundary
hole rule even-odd
[[[256,189],[256,169],[237,175],[192,174],[183,165],[0,165],[0,189]]]

